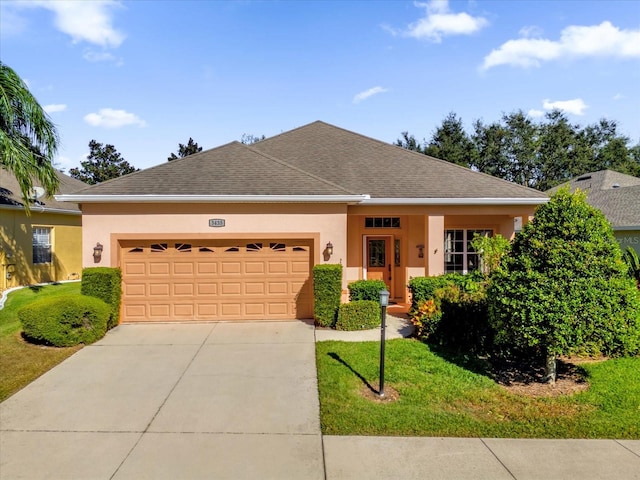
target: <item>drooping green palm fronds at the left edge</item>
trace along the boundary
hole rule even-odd
[[[27,85],[0,62],[0,166],[16,177],[27,211],[34,180],[47,195],[58,189],[53,167],[58,142],[53,122]]]

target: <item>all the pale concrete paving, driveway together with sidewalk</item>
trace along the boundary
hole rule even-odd
[[[640,441],[322,437],[320,332],[121,325],[0,404],[0,478],[640,480]]]

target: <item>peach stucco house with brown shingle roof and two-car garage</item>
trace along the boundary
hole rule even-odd
[[[84,265],[123,273],[124,321],[313,316],[311,269],[343,288],[477,267],[547,195],[323,122],[232,142],[58,200],[82,205]]]

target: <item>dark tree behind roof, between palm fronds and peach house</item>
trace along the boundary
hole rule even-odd
[[[89,155],[80,162],[82,168],[72,168],[69,175],[89,185],[102,183],[112,178],[118,178],[128,173],[138,171],[131,166],[113,145],[103,145],[95,140],[89,142]]]

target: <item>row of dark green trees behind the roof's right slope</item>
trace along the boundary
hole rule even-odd
[[[640,176],[640,143],[631,146],[615,121],[581,127],[559,110],[539,122],[521,110],[496,122],[476,120],[471,133],[452,112],[428,140],[401,135],[395,142],[400,147],[542,191],[605,169]]]

